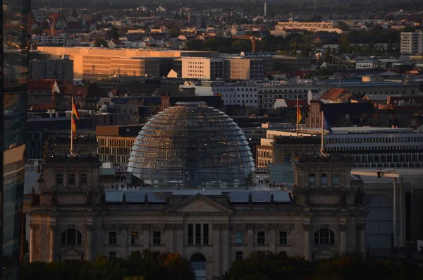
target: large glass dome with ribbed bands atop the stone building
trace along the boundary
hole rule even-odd
[[[205,102],[178,102],[153,116],[128,162],[128,173],[154,187],[245,187],[254,171],[243,132]]]

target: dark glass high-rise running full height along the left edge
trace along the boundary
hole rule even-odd
[[[25,170],[29,0],[0,0],[0,279],[18,279]]]

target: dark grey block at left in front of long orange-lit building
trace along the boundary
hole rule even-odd
[[[28,70],[30,80],[59,80],[73,83],[73,61],[70,59],[32,59]]]

